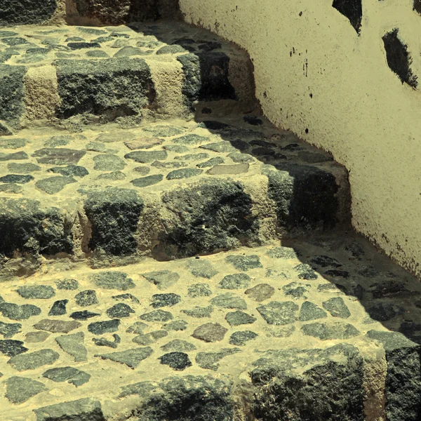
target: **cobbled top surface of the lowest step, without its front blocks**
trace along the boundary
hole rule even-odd
[[[303,349],[321,363],[344,344],[362,355],[415,346],[420,293],[352,234],[107,270],[51,266],[1,284],[2,419],[83,398],[107,417],[159,395],[175,373],[250,382],[288,352],[308,368]]]

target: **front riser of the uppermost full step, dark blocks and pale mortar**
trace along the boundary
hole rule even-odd
[[[206,64],[214,55],[220,60],[216,69]],[[69,117],[91,122],[114,121],[119,116],[186,118],[195,108],[203,108],[201,103],[218,109],[222,102],[225,114],[227,109],[230,113],[255,109],[246,54],[232,58],[225,53],[207,53],[199,59],[186,56],[193,60],[188,68],[180,61],[162,67],[153,59],[124,58],[58,60],[55,67],[29,69],[0,65],[4,87],[0,120],[20,128],[37,120],[48,124]],[[216,78],[213,72],[218,73]]]

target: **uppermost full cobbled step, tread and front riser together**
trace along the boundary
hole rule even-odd
[[[248,55],[182,22],[8,27],[0,63],[0,121],[11,131],[256,108]]]

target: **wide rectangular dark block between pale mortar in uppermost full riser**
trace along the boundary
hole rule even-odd
[[[155,99],[154,82],[145,60],[109,58],[105,60],[57,60],[58,115],[116,116],[139,114]]]

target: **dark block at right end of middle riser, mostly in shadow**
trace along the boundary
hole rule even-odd
[[[276,203],[278,223],[286,229],[335,226],[339,209],[335,176],[314,166],[275,165],[267,171],[269,198]]]

